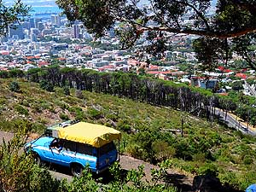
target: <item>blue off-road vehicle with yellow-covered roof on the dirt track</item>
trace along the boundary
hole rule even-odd
[[[65,122],[49,127],[43,137],[27,143],[25,148],[38,164],[45,161],[67,166],[73,176],[79,177],[87,165],[92,172],[100,173],[119,160],[113,140],[120,138],[119,131],[107,126]]]

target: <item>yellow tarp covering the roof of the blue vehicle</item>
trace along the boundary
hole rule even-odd
[[[79,122],[74,125],[59,128],[58,137],[100,148],[115,139],[121,139],[121,132],[104,125]]]

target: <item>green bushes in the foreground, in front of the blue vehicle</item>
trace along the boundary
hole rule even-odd
[[[160,184],[166,174],[168,162],[161,164],[159,171],[152,170],[152,181],[143,182],[143,167],[138,171],[131,170],[126,176],[121,175],[119,164],[111,167],[112,181],[108,185],[97,183],[86,168],[82,177],[75,177],[71,183],[67,180],[53,178],[44,167],[33,163],[33,154],[20,154],[20,149],[26,143],[26,133],[31,131],[32,124],[26,120],[15,124],[18,131],[8,143],[0,145],[0,191],[24,192],[71,192],[71,191],[168,191],[177,189],[167,184]],[[127,184],[129,183],[129,184]]]

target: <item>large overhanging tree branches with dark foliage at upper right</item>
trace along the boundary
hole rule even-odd
[[[212,61],[216,61],[218,53],[228,64],[230,51],[241,54],[235,49],[236,44],[245,37],[251,44],[251,34],[256,31],[256,2],[249,0],[148,0],[148,6],[142,6],[142,0],[57,0],[56,3],[69,20],[83,21],[96,37],[104,36],[116,25],[116,34],[124,49],[143,37],[148,44],[144,50],[159,56],[170,47],[173,34],[196,35],[201,45],[214,46],[206,49],[207,55],[198,57],[209,66],[216,64]],[[209,15],[212,6],[216,11]],[[197,45],[200,45],[198,41]],[[247,49],[242,53],[244,50]],[[211,54],[211,51],[217,54]],[[197,54],[203,55],[201,52]],[[213,59],[209,59],[211,57]],[[247,58],[246,55],[243,57]]]

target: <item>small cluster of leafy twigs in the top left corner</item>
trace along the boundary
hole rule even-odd
[[[0,36],[5,35],[10,28],[16,28],[16,24],[20,24],[28,15],[30,7],[22,3],[20,0],[15,1],[12,6],[5,6],[3,1],[0,2]]]

